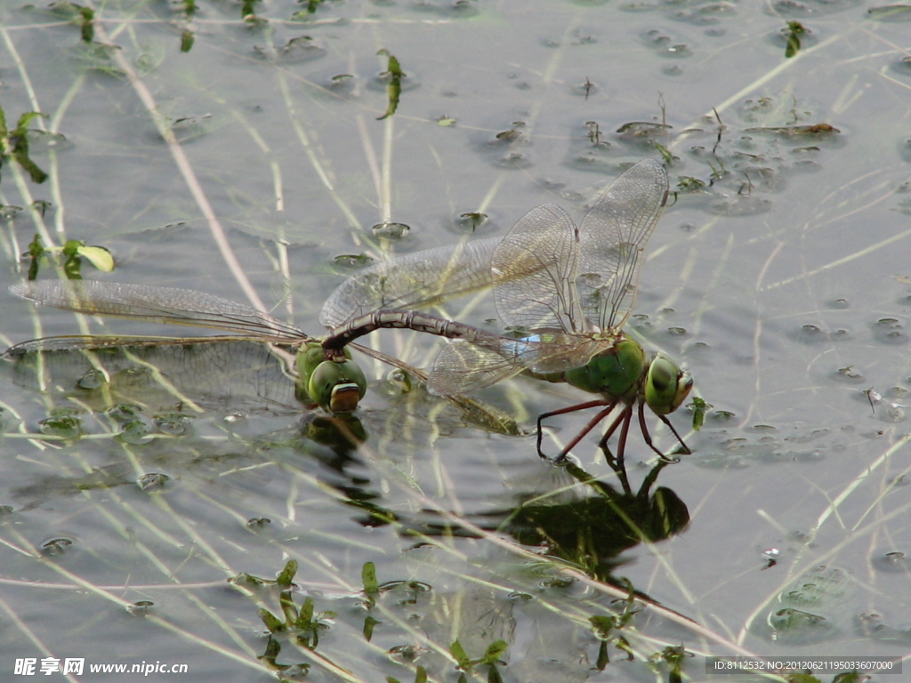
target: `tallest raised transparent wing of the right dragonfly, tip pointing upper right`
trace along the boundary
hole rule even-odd
[[[578,291],[586,316],[601,330],[618,331],[629,317],[645,245],[667,199],[667,172],[645,159],[614,180],[582,220]]]

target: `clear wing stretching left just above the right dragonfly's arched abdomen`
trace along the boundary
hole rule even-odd
[[[380,309],[421,309],[490,287],[490,255],[499,238],[416,251],[377,263],[345,280],[322,305],[333,330]]]

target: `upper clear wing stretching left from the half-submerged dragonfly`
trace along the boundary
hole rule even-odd
[[[237,334],[302,341],[298,328],[204,291],[105,280],[34,280],[10,288],[38,304],[88,315],[208,327]]]

